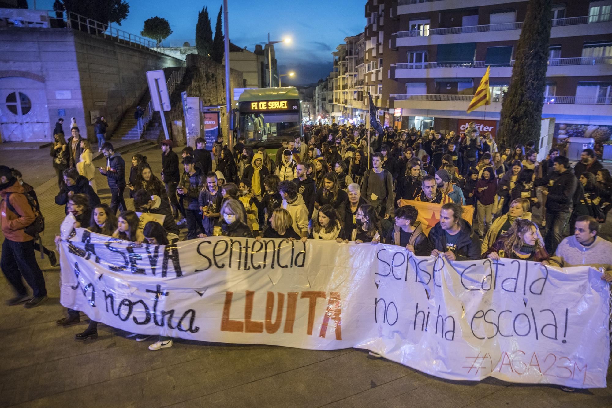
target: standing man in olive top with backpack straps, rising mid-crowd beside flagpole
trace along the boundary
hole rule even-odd
[[[379,215],[389,218],[393,209],[393,177],[383,169],[383,159],[381,153],[374,153],[372,168],[364,173],[361,181],[361,192]]]

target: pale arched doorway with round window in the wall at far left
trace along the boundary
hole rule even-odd
[[[34,79],[0,78],[2,142],[51,140],[45,85]]]

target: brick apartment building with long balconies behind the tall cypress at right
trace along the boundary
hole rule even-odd
[[[401,117],[403,127],[460,132],[474,120],[495,133],[527,5],[368,1],[365,61],[372,75],[366,84],[371,93],[378,90],[378,106],[396,120]],[[589,136],[589,125],[612,133],[611,9],[611,0],[553,1],[542,117],[555,119],[559,138]],[[492,103],[466,114],[488,66]]]

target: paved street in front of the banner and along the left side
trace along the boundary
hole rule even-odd
[[[154,172],[160,150],[141,151]],[[129,163],[131,155],[125,155]],[[64,217],[47,149],[0,151],[35,186],[47,219],[45,245]],[[95,163],[103,164],[102,160]],[[110,201],[97,175],[100,198]],[[129,203],[128,205],[131,205]],[[612,230],[605,225],[606,233]],[[176,340],[159,352],[100,325],[100,337],[73,340],[87,320],[58,327],[59,268],[40,261],[49,301],[37,308],[7,307],[12,290],[0,277],[0,406],[18,407],[612,407],[612,389],[562,392],[556,386],[446,381],[376,359],[367,351],[311,351],[275,346]],[[603,357],[603,356],[602,356]],[[608,370],[608,381],[612,370]]]

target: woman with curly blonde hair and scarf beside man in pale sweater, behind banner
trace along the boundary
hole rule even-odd
[[[537,225],[530,220],[517,219],[507,233],[495,241],[482,257],[492,260],[510,258],[547,264],[550,255],[544,249],[542,235]]]

